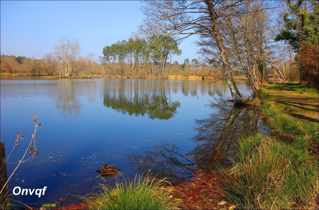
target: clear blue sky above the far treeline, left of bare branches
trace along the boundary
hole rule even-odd
[[[3,54],[40,59],[52,52],[61,37],[76,38],[83,51],[102,56],[102,49],[127,39],[143,14],[139,1],[1,1],[0,51]],[[175,56],[197,58],[197,37],[184,40]]]

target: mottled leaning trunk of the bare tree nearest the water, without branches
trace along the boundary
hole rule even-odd
[[[245,99],[243,99],[243,97],[241,96],[241,94],[240,94],[239,90],[237,89],[237,86],[234,82],[234,77],[233,77],[233,74],[232,74],[232,71],[230,68],[229,60],[227,58],[225,45],[224,45],[223,39],[222,39],[220,32],[219,32],[219,27],[218,27],[218,24],[216,21],[216,16],[215,16],[216,14],[215,14],[215,10],[213,8],[212,2],[211,1],[204,1],[204,2],[208,6],[209,14],[211,17],[212,29],[215,33],[215,39],[216,39],[216,42],[217,42],[218,48],[219,48],[219,56],[222,60],[223,67],[225,69],[226,81],[227,81],[228,87],[230,89],[230,92],[232,94],[234,104],[249,105],[249,103]]]

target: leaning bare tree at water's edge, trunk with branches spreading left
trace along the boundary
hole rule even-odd
[[[227,8],[239,5],[241,1],[144,1],[146,19],[140,30],[148,36],[180,35],[184,39],[190,35],[203,35],[215,39],[219,57],[226,74],[226,81],[235,104],[249,104],[236,87],[219,26],[228,15]]]

